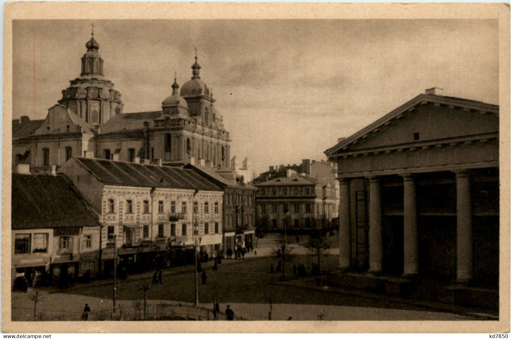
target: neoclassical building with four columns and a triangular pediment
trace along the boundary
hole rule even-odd
[[[325,153],[341,269],[498,286],[498,106],[431,88]]]

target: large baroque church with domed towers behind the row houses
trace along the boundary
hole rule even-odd
[[[201,80],[197,54],[192,78],[153,112],[123,113],[121,93],[103,71],[99,43],[85,44],[80,77],[70,81],[45,119],[28,116],[12,125],[13,170],[30,164],[33,173],[51,173],[71,157],[168,165],[230,166],[230,139],[211,89]]]

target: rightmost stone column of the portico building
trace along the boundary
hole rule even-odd
[[[468,171],[456,172],[456,215],[456,281],[467,282],[473,273],[472,208]]]

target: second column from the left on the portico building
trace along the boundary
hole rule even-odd
[[[380,178],[369,178],[369,273],[381,273],[383,262]]]

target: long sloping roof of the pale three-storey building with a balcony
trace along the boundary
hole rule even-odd
[[[94,158],[76,158],[76,160],[105,184],[222,190],[192,169]]]

